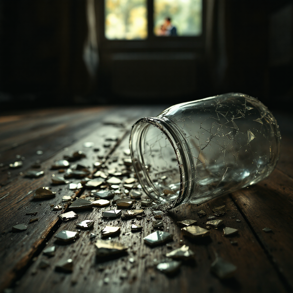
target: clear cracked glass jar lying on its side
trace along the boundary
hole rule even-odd
[[[281,135],[256,98],[226,93],[174,105],[132,127],[132,165],[151,199],[199,204],[266,178]]]

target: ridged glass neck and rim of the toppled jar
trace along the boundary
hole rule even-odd
[[[145,166],[146,164],[144,163],[144,144],[150,124],[159,128],[168,138],[176,154],[180,173],[180,191],[178,197],[173,200],[161,194],[155,187],[154,182],[149,177],[149,172]],[[151,199],[157,203],[176,207],[187,202],[191,198],[192,191],[195,190],[195,171],[191,165],[193,158],[189,150],[190,147],[184,133],[173,121],[166,117],[145,117],[138,120],[133,125],[130,134],[132,165],[144,192],[151,197]]]

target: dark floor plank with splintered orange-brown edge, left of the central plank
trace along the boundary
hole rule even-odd
[[[51,181],[51,175],[57,173],[56,170],[50,170],[53,162],[56,159],[62,159],[64,154],[71,154],[73,151],[83,150],[87,152],[87,158],[78,162],[92,166],[92,163],[97,160],[97,154],[93,152],[93,148],[83,148],[83,142],[94,142],[96,147],[102,149],[104,156],[107,156],[113,147],[115,147],[116,142],[112,142],[112,148],[104,149],[102,145],[105,137],[114,135],[121,138],[129,131],[135,120],[143,116],[157,115],[161,110],[161,108],[157,107],[121,107],[119,110],[113,111],[111,115],[108,115],[96,127],[96,130],[92,134],[45,161],[42,166],[42,170],[46,173],[44,177],[32,180],[18,176],[12,183],[0,189],[0,219],[2,223],[0,245],[4,248],[0,252],[0,290],[7,287],[16,276],[16,273],[28,263],[38,249],[38,246],[45,241],[52,227],[59,225],[58,214],[60,212],[52,212],[50,204],[55,205],[60,203],[63,195],[71,194],[75,196],[72,191],[68,190],[67,185],[52,187],[52,190],[57,192],[56,197],[52,200],[35,202],[31,200],[33,194],[25,196],[30,190],[35,190],[41,186],[48,186]],[[127,128],[105,123],[107,121],[115,122],[117,120],[120,123],[124,123]],[[70,181],[79,182],[80,180]],[[61,188],[62,190],[60,190]],[[25,215],[26,211],[35,210],[36,208],[38,210],[39,221],[30,224],[25,232],[11,233],[11,226],[16,223],[28,223],[30,216]]]

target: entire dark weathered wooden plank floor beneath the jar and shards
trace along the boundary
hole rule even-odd
[[[67,185],[52,186],[56,197],[36,202],[31,190],[51,186],[51,170],[55,160],[76,150],[85,151],[87,156],[78,162],[92,166],[97,154],[103,155],[106,165],[111,158],[126,157],[132,124],[144,116],[156,116],[166,107],[92,107],[32,110],[11,113],[0,117],[0,290],[12,288],[11,292],[292,292],[293,288],[293,140],[283,136],[281,158],[277,168],[264,181],[219,197],[202,205],[182,205],[164,216],[164,231],[172,233],[172,248],[182,244],[195,252],[195,261],[185,263],[180,271],[168,277],[156,270],[157,261],[163,260],[170,251],[166,245],[150,248],[143,237],[151,232],[151,211],[141,220],[142,232],[132,233],[131,220],[104,220],[101,212],[105,208],[93,208],[78,212],[79,220],[93,219],[95,225],[90,232],[98,234],[107,224],[120,226],[120,236],[114,239],[126,244],[127,255],[100,262],[95,257],[95,241],[90,240],[89,231],[81,231],[80,238],[68,245],[58,245],[54,235],[61,230],[76,231],[75,222],[61,222],[58,215],[68,211],[68,204],[61,203],[64,195],[87,197],[89,190],[76,192]],[[281,128],[282,131],[282,128]],[[105,137],[117,136],[117,142],[103,147]],[[84,142],[94,142],[93,148],[84,148]],[[42,155],[36,151],[42,150]],[[16,155],[25,157],[23,167],[9,169],[8,164],[17,161]],[[30,169],[37,159],[45,176],[38,179],[25,178],[22,173]],[[70,182],[79,182],[70,179]],[[50,205],[60,204],[62,211],[54,212]],[[224,237],[222,229],[211,229],[210,237],[203,241],[191,241],[181,234],[177,221],[195,219],[205,227],[205,217],[197,212],[204,209],[212,215],[214,207],[225,205],[222,217],[226,226],[239,229],[234,237]],[[140,206],[139,203],[137,206]],[[24,232],[12,233],[13,225],[28,224],[29,210],[38,211],[39,221],[28,225]],[[236,221],[237,220],[237,221]],[[119,221],[119,222],[118,222]],[[138,223],[138,221],[135,221]],[[263,228],[269,227],[271,233]],[[238,245],[232,245],[237,241]],[[42,254],[44,248],[55,245],[54,257]],[[170,245],[169,245],[170,246]],[[218,254],[237,266],[235,276],[221,281],[210,272],[210,265]],[[71,258],[72,273],[58,272],[55,265],[60,260]],[[130,262],[134,258],[134,262]],[[41,260],[50,266],[39,269]],[[108,279],[107,279],[108,278]],[[108,282],[106,282],[108,280]],[[9,290],[6,292],[10,292]]]

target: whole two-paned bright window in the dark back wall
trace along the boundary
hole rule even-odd
[[[154,15],[147,7],[153,8]],[[148,21],[154,23],[151,32]],[[152,34],[196,37],[201,33],[202,0],[105,0],[108,40],[144,40]]]

